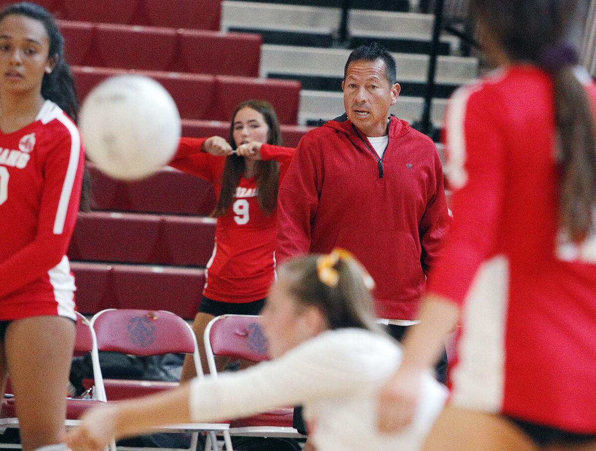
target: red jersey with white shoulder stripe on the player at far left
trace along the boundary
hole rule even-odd
[[[0,131],[0,320],[76,319],[66,250],[85,154],[75,124],[46,101],[36,120]]]

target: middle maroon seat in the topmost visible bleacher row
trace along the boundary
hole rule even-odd
[[[139,10],[139,0],[63,0],[63,5],[64,18],[87,22],[131,24]]]

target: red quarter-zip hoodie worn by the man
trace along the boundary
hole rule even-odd
[[[350,250],[373,276],[377,315],[415,318],[451,219],[433,141],[390,118],[379,158],[345,116],[309,131],[278,195],[278,262]]]

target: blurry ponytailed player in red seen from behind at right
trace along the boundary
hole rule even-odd
[[[460,322],[426,450],[594,450],[596,86],[565,40],[577,5],[472,6],[499,69],[449,104],[454,223],[380,426],[408,424],[421,372]]]

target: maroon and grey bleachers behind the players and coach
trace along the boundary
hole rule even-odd
[[[341,46],[337,0],[41,4],[59,19],[80,98],[115,74],[146,74],[175,99],[184,136],[227,137],[235,106],[259,98],[274,105],[286,145],[296,146],[307,124],[342,114],[343,65],[350,49],[371,40],[398,62],[402,95],[392,112],[420,117],[432,15],[412,12],[414,2],[352,2]],[[456,48],[453,38],[440,44],[436,124],[446,98],[476,73],[476,60]],[[91,174],[93,211],[80,214],[69,249],[80,311],[155,308],[192,319],[213,249],[213,187],[169,168],[135,183],[93,167]]]

